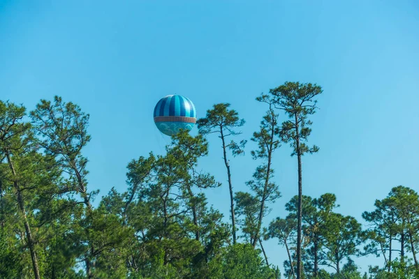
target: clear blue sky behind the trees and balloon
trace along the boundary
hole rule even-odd
[[[303,159],[304,194],[335,193],[339,211],[362,220],[393,186],[419,190],[418,65],[416,0],[0,1],[1,100],[32,110],[57,94],[89,112],[89,187],[101,195],[126,190],[128,161],[164,150],[169,140],[152,119],[163,96],[191,98],[198,117],[231,103],[249,139],[266,109],[258,94],[315,82],[324,93],[310,142],[321,149]],[[223,182],[205,193],[228,216],[219,145],[210,138],[200,166]],[[231,160],[235,190],[246,190],[256,166],[252,148]],[[284,217],[297,194],[290,153],[284,145],[274,155],[283,197],[267,221]],[[282,269],[284,248],[266,246]]]

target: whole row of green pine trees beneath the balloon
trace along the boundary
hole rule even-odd
[[[229,160],[244,154],[247,141],[230,140],[244,120],[221,103],[198,120],[196,137],[184,131],[164,155],[128,163],[127,190],[112,188],[96,207],[83,156],[89,114],[59,97],[29,113],[0,101],[0,278],[368,278],[353,262],[367,255],[383,257],[370,278],[419,278],[414,190],[398,186],[376,200],[362,216],[366,228],[336,212],[335,195],[302,195],[301,157],[318,151],[306,144],[308,117],[321,92],[287,82],[256,98],[267,112],[251,137],[260,165],[247,191],[234,190]],[[205,196],[221,183],[198,168],[210,133],[222,144],[230,223]],[[272,158],[281,143],[297,157],[298,195],[285,205],[288,216],[269,222],[280,197]],[[267,239],[287,252],[281,272],[263,248]]]

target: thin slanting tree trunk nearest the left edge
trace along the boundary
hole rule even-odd
[[[17,175],[15,172],[15,167],[13,167],[13,162],[7,150],[5,151],[5,154],[8,160],[8,165],[10,167],[10,170],[12,171],[13,176],[15,176],[15,181],[13,181],[13,186],[15,187],[15,190],[17,192],[17,204],[19,204],[19,209],[23,217],[24,230],[27,236],[27,243],[29,246],[29,251],[31,252],[31,260],[32,260],[32,267],[34,269],[34,276],[35,276],[35,279],[41,279],[41,276],[39,275],[38,257],[36,256],[34,239],[32,239],[31,227],[29,226],[29,222],[27,220],[27,213],[24,208],[24,202],[23,202],[22,193],[20,191],[20,186],[17,183]]]

